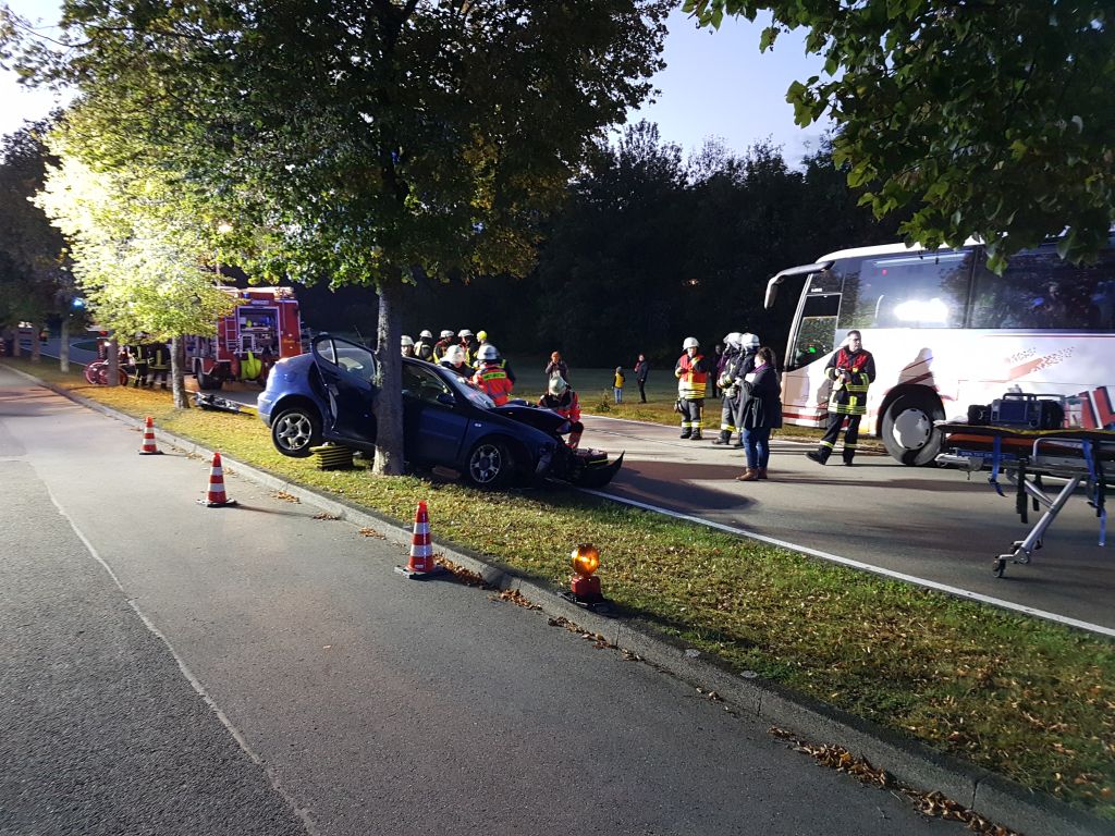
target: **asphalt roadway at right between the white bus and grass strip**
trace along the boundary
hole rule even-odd
[[[1030,526],[987,473],[969,480],[869,454],[855,467],[838,456],[821,467],[804,456],[813,445],[775,441],[769,480],[739,483],[743,450],[680,439],[673,427],[593,416],[584,424],[586,444],[627,450],[609,495],[1115,629],[1115,545],[1097,545],[1098,519],[1083,492],[1034,561],[1008,563],[997,579],[992,558]],[[1030,525],[1039,516],[1031,511]]]

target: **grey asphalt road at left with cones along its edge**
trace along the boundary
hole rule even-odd
[[[964,832],[139,441],[0,368],[0,834]]]

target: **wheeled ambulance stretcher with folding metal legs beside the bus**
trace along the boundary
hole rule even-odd
[[[1099,545],[1106,544],[1107,489],[1115,487],[1115,430],[1050,429],[1026,430],[1010,427],[976,426],[938,421],[943,434],[937,463],[967,470],[969,475],[990,470],[988,483],[1000,496],[1000,477],[1011,483],[1015,509],[1022,523],[1034,512],[1046,508],[1041,518],[1022,539],[1016,539],[1006,554],[995,557],[993,572],[1002,577],[1007,562],[1026,564],[1038,548],[1068,500],[1084,486],[1083,496],[1099,519]],[[1047,492],[1045,479],[1064,480],[1056,493]]]

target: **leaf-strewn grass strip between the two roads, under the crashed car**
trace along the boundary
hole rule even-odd
[[[1101,636],[572,490],[514,492],[508,502],[454,483],[321,472],[275,453],[256,418],[180,411],[165,392],[8,362],[404,524],[426,499],[435,537],[555,585],[568,583],[573,545],[591,541],[608,596],[658,630],[1115,819],[1115,644]],[[570,377],[582,398],[597,385],[580,370]]]

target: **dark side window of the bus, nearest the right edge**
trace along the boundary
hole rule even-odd
[[[970,327],[1115,330],[1115,250],[1077,266],[1043,245],[1012,255],[1001,276],[981,256]]]

